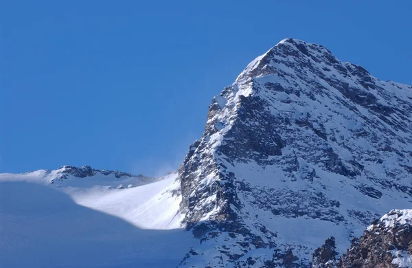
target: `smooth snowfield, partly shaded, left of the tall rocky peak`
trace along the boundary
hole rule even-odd
[[[0,175],[0,267],[176,267],[196,242],[177,175],[85,170]]]

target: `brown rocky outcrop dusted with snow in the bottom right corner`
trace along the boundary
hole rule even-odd
[[[343,255],[339,268],[412,267],[412,210],[391,210]]]

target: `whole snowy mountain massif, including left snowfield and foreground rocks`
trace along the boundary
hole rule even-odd
[[[63,166],[0,183],[8,267],[403,267],[412,87],[286,38],[213,98],[177,173]]]

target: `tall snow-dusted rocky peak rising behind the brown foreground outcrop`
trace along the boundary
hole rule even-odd
[[[412,202],[412,87],[285,39],[214,97],[179,168],[181,267],[310,267]],[[319,258],[323,258],[319,252]]]

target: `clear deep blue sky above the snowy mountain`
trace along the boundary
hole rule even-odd
[[[176,169],[286,37],[412,85],[412,1],[2,1],[0,172]]]

